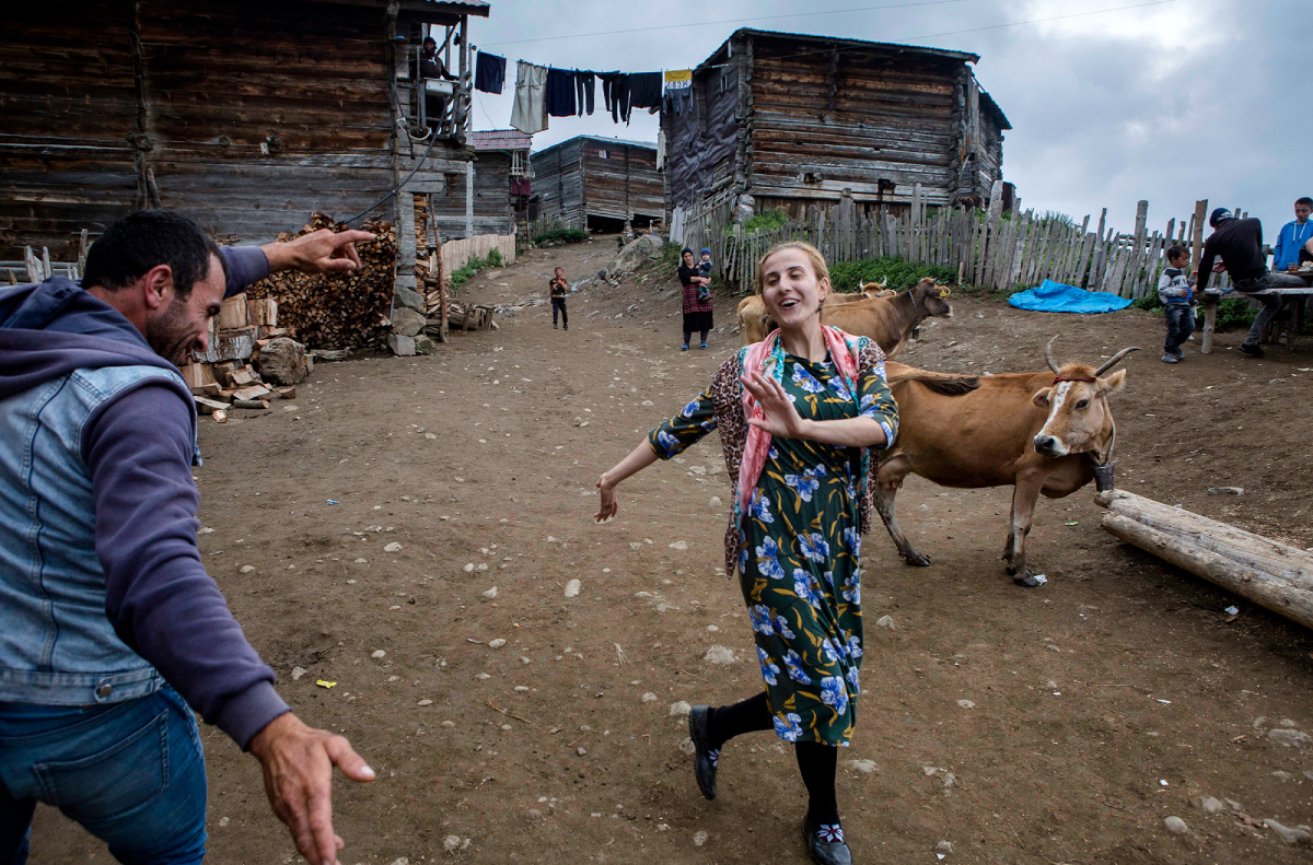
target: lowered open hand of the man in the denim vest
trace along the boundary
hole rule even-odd
[[[310,865],[336,865],[343,840],[332,831],[332,768],[352,781],[373,781],[374,770],[343,736],[307,727],[290,711],[251,739],[264,767],[264,789],[278,819]]]

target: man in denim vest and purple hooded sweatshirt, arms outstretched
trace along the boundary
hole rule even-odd
[[[301,853],[337,861],[332,767],[374,777],[273,689],[196,546],[196,410],[177,365],[221,301],[272,269],[349,270],[362,231],[219,249],[190,219],[110,226],[81,285],[0,290],[0,865],[35,803],[121,862],[205,853],[192,709],[264,767]]]

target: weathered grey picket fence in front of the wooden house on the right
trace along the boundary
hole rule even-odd
[[[1207,201],[1196,203],[1188,221],[1169,219],[1163,231],[1153,234],[1148,231],[1149,202],[1141,201],[1134,231],[1123,234],[1106,224],[1107,209],[1094,231],[1090,217],[1077,224],[1067,217],[1033,210],[1004,214],[999,186],[995,184],[987,211],[926,207],[918,194],[899,217],[859,217],[856,202],[844,194],[832,207],[814,209],[807,219],[756,231],[731,222],[731,202],[678,209],[671,219],[671,240],[692,249],[712,249],[714,273],[741,290],[752,284],[760,256],[789,240],[815,245],[830,263],[895,256],[953,269],[958,282],[968,285],[1025,289],[1053,280],[1128,298],[1157,290],[1166,249],[1173,244],[1191,249],[1191,266],[1199,263]],[[1228,284],[1225,277],[1215,282]]]

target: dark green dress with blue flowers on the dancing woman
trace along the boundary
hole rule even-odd
[[[798,413],[813,420],[872,417],[893,441],[898,408],[884,364],[850,392],[827,356],[785,356],[781,377]],[[712,429],[712,390],[651,431],[670,459]],[[861,534],[857,450],[773,438],[752,491],[739,581],[752,623],[775,731],[786,742],[846,746],[861,692]]]

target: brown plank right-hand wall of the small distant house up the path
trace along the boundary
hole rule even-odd
[[[582,147],[586,215],[666,218],[666,192],[656,171],[655,147],[600,138],[586,138]]]

